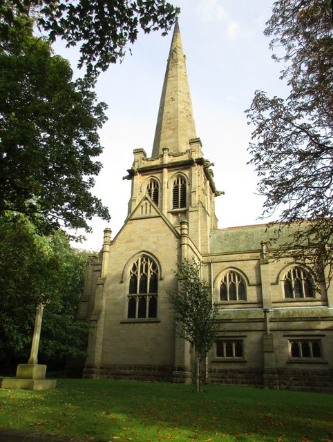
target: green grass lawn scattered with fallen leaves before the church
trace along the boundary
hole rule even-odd
[[[247,387],[59,379],[0,389],[0,427],[105,441],[330,442],[333,396]]]

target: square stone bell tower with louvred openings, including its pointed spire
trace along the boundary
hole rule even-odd
[[[129,217],[147,197],[142,215],[149,215],[149,204],[153,204],[178,231],[180,222],[186,220],[189,238],[200,253],[207,253],[209,232],[218,227],[215,197],[221,192],[213,182],[213,164],[204,159],[196,135],[178,21],[173,30],[151,157],[144,149],[133,153],[133,166],[126,176],[132,181]]]

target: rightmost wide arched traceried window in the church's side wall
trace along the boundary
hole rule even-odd
[[[301,267],[293,267],[283,278],[285,298],[314,298],[314,286],[310,273]]]

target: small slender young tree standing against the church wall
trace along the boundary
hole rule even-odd
[[[209,297],[209,283],[200,278],[201,265],[194,258],[184,260],[175,276],[178,289],[168,290],[175,310],[176,333],[196,350],[196,386],[200,391],[200,362],[207,356],[216,331],[217,308]]]

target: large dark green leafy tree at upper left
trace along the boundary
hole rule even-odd
[[[108,209],[91,194],[102,165],[97,130],[104,103],[72,80],[32,23],[12,27],[0,43],[0,214],[23,213],[42,233],[84,228]]]

